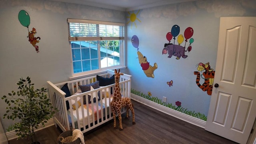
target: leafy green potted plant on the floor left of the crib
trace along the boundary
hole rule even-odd
[[[8,96],[2,96],[2,100],[8,104],[3,118],[18,121],[11,126],[18,139],[29,138],[32,144],[40,144],[36,141],[34,129],[37,129],[39,124],[44,127],[56,109],[47,96],[46,88],[35,90],[30,77],[20,78],[17,85],[17,92],[12,91]]]

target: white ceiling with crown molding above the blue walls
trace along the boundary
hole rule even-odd
[[[74,4],[84,4],[113,10],[132,11],[166,4],[176,4],[196,0],[53,0],[58,2],[68,2]]]

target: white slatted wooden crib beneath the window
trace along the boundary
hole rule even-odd
[[[110,78],[113,75],[113,70],[107,70],[106,73],[98,76]],[[50,100],[54,108],[59,110],[54,115],[54,122],[62,131],[78,128],[84,133],[113,119],[110,102],[112,100],[111,88],[114,93],[114,84],[86,92],[80,90],[80,86],[90,85],[97,81],[96,75],[59,84],[47,81]],[[65,97],[66,93],[61,90],[66,83],[71,94],[69,97]],[[121,75],[119,86],[122,97],[130,97],[131,76],[128,74]],[[97,100],[97,95],[99,100]],[[95,102],[93,102],[94,97],[96,97]],[[69,110],[67,110],[66,101],[70,105]],[[123,109],[122,113],[124,112],[126,110]]]

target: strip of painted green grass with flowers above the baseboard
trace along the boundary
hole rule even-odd
[[[182,108],[181,107],[181,102],[177,101],[175,102],[175,105],[172,105],[172,103],[166,103],[166,102],[162,102],[161,99],[157,98],[157,97],[152,97],[152,93],[148,92],[148,94],[143,94],[142,92],[139,92],[137,90],[131,89],[131,93],[135,94],[137,96],[140,96],[142,98],[145,98],[147,100],[150,100],[152,102],[156,102],[157,104],[161,104],[162,106],[166,106],[168,108],[171,108],[173,110],[177,110],[178,112],[182,112],[184,114],[193,116],[195,118],[199,118],[201,120],[206,121],[207,120],[207,116],[205,116],[204,114],[201,114],[200,112],[195,112],[195,111],[190,111],[187,108]]]

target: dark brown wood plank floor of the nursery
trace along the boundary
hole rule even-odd
[[[84,134],[86,144],[237,144],[203,128],[194,126],[153,108],[132,101],[135,121],[122,120],[123,131],[113,128],[113,120]],[[118,122],[118,120],[117,120]],[[118,123],[117,123],[118,124]],[[50,126],[36,132],[41,144],[58,144],[59,128]],[[10,140],[9,144],[31,144],[29,140]]]

